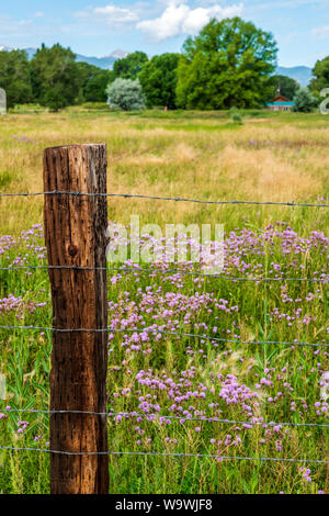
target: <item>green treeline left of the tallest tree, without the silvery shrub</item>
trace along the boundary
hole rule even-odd
[[[175,108],[179,54],[164,54],[149,60],[135,52],[104,70],[77,63],[70,48],[45,45],[31,60],[25,51],[0,52],[0,88],[7,92],[8,108],[37,103],[57,111],[83,102],[106,102],[106,87],[115,79],[143,81],[149,105]]]

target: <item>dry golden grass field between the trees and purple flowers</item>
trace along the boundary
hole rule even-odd
[[[29,141],[16,139],[22,136]],[[43,149],[87,142],[107,144],[112,193],[316,203],[328,192],[324,116],[249,119],[236,126],[223,116],[204,114],[191,125],[183,115],[157,120],[78,112],[11,114],[0,120],[0,191],[42,191]],[[1,199],[0,204],[1,234],[42,222],[42,198]],[[138,213],[161,223],[190,220],[193,213],[198,220],[225,217],[231,224],[236,220],[229,207],[183,203],[157,207],[151,201],[116,199],[110,201],[110,216],[127,222]],[[273,213],[284,216],[286,212],[274,209]],[[263,223],[270,220],[268,212],[262,214]],[[322,214],[311,217],[324,220]]]

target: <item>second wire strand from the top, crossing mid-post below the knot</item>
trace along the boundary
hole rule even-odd
[[[215,278],[226,281],[239,282],[279,282],[279,281],[296,281],[309,283],[327,283],[328,278],[235,278],[230,276],[211,274],[184,269],[144,269],[140,267],[77,267],[77,266],[22,266],[22,267],[0,267],[0,270],[19,271],[19,270],[77,270],[77,271],[116,271],[116,272],[146,272],[148,274],[183,274],[197,276],[201,278]]]

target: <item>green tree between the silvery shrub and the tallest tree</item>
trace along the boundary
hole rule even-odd
[[[177,67],[179,54],[162,54],[146,63],[138,75],[147,105],[175,108]]]

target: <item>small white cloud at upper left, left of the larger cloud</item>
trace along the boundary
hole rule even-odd
[[[87,8],[84,11],[76,13],[77,18],[81,20],[95,20],[103,21],[107,25],[122,25],[138,21],[138,15],[132,9],[118,8],[109,3],[103,8]]]

